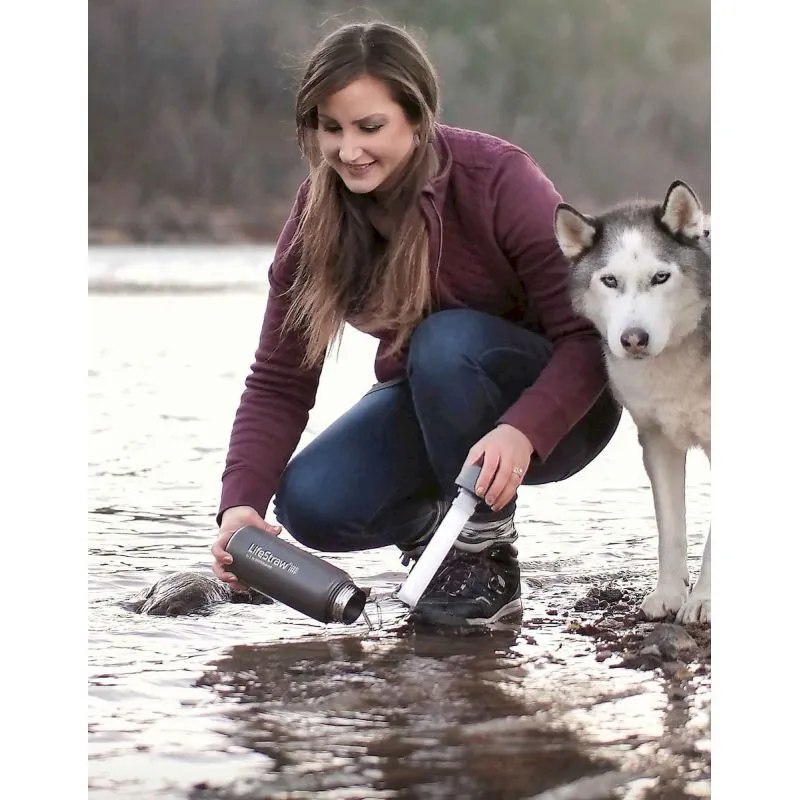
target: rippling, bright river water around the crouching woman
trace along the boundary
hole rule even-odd
[[[323,626],[278,604],[140,616],[120,602],[207,571],[219,476],[266,300],[264,248],[89,254],[89,795],[684,798],[709,795],[710,671],[614,668],[569,625],[593,585],[644,591],[652,500],[627,416],[561,485],[523,487],[521,626],[487,635]],[[302,447],[373,382],[348,332]],[[710,514],[691,453],[690,569]],[[397,551],[331,559],[363,585]]]

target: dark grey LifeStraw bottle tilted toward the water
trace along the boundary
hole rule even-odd
[[[350,625],[367,594],[339,567],[252,525],[239,528],[226,548],[239,582],[319,622]]]

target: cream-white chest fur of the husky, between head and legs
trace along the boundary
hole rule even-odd
[[[652,358],[606,354],[611,387],[638,428],[657,425],[681,449],[711,444],[711,362],[700,341]]]

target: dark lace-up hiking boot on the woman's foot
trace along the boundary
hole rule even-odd
[[[522,614],[517,548],[490,542],[470,552],[456,545],[411,611],[426,625],[490,625]]]

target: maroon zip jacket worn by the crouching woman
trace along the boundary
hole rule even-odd
[[[522,431],[545,460],[606,386],[599,336],[570,304],[567,262],[553,231],[561,197],[524,150],[502,139],[438,125],[435,146],[440,171],[420,196],[433,308],[485,311],[553,343],[539,378],[498,420]],[[321,368],[301,367],[301,339],[279,334],[297,267],[288,245],[307,191],[308,181],[269,270],[269,299],[233,423],[219,515],[239,505],[266,512],[316,399]],[[388,358],[386,337],[377,338],[376,378],[405,374],[407,350]]]

